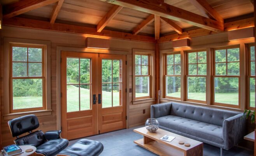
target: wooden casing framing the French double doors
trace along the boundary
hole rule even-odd
[[[57,130],[61,130],[61,51],[74,51],[74,52],[87,52],[87,53],[105,53],[105,54],[118,54],[118,55],[129,55],[129,51],[121,50],[104,50],[104,49],[93,49],[93,48],[75,48],[57,46],[56,50],[56,118],[57,118]],[[126,70],[126,87],[129,86]],[[126,115],[129,110],[129,93],[126,93]],[[126,127],[128,122],[126,121]]]

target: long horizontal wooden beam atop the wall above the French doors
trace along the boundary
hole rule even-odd
[[[12,17],[10,19],[5,19],[3,21],[4,26],[14,26],[23,27],[30,29],[40,29],[46,31],[58,31],[63,33],[73,33],[73,34],[87,34],[89,36],[103,36],[107,38],[117,38],[132,41],[142,41],[155,43],[156,40],[151,36],[144,35],[133,35],[131,33],[123,33],[118,31],[102,30],[101,33],[97,32],[96,28],[76,26],[71,24],[54,23],[50,24],[47,21],[39,21],[34,19],[25,19],[21,17]]]

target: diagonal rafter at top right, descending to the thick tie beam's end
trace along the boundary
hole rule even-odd
[[[223,18],[221,15],[213,9],[210,4],[206,0],[189,0],[200,12],[205,14],[207,17],[211,19],[216,19],[216,21],[223,23]]]

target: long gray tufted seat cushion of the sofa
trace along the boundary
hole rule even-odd
[[[174,115],[160,117],[157,118],[157,120],[160,123],[160,126],[167,127],[168,129],[172,129],[190,136],[195,136],[195,138],[192,139],[196,139],[198,141],[201,139],[206,139],[218,144],[222,144],[224,142],[222,132],[223,128],[218,125],[199,122]]]

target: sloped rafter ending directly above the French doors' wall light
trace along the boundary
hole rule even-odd
[[[98,22],[97,25],[97,32],[101,32],[105,26],[107,26],[107,24],[111,21],[111,19],[113,19],[115,17],[116,14],[118,14],[118,12],[122,9],[122,6],[119,5],[114,5],[109,12],[107,12],[107,14],[104,15],[104,17],[102,17],[102,19],[100,20],[100,22]]]

